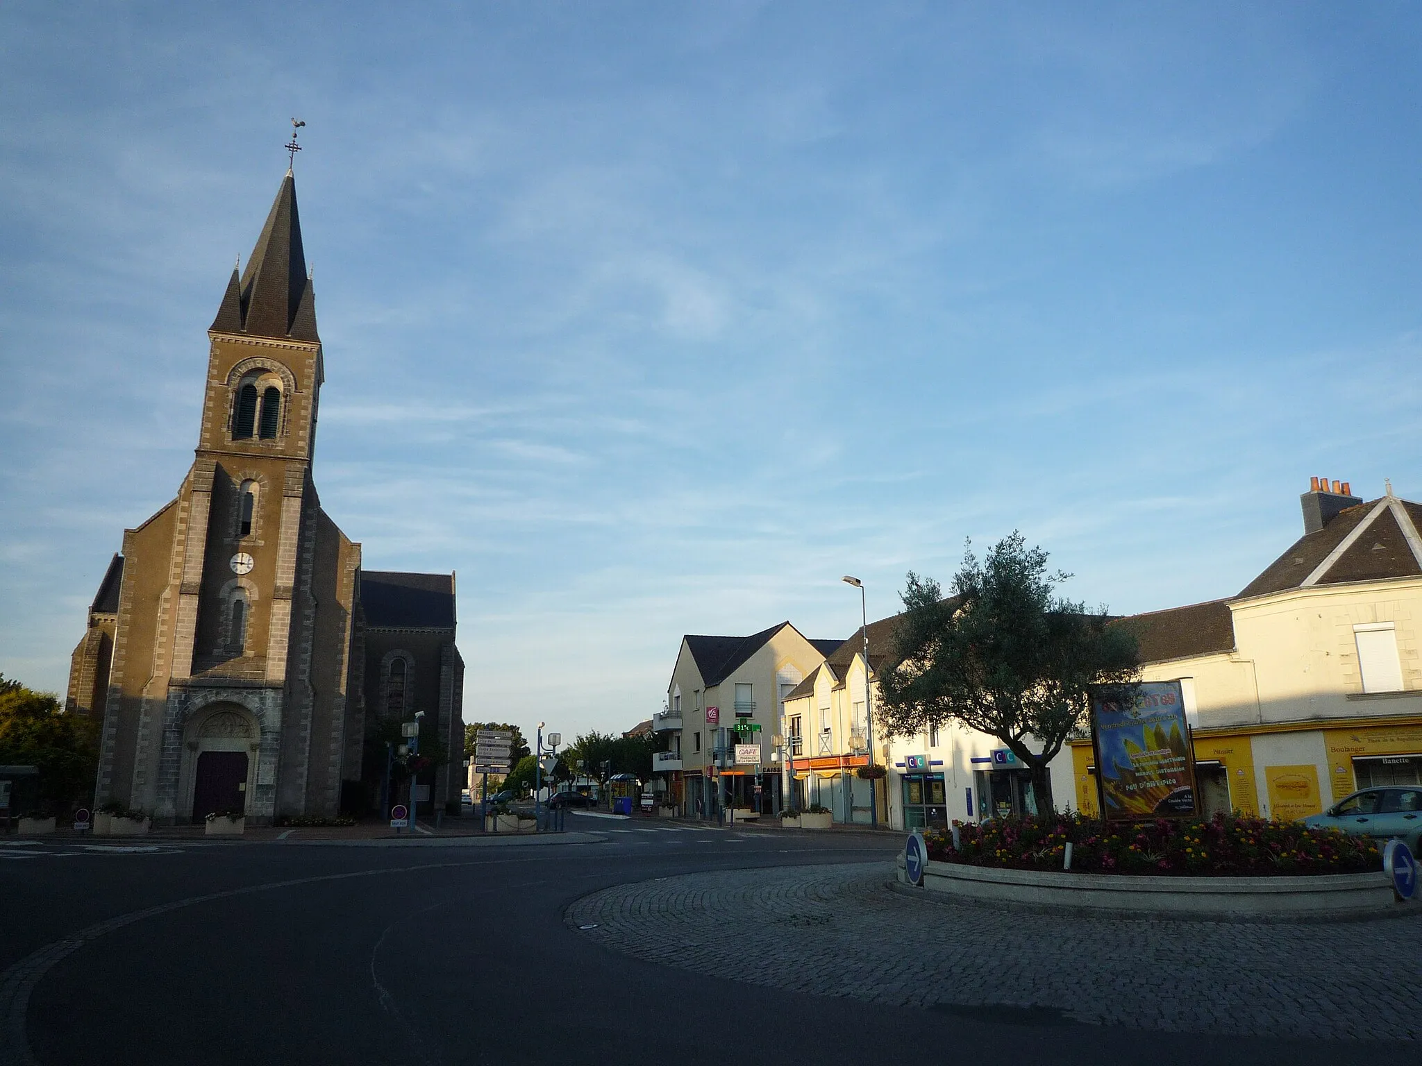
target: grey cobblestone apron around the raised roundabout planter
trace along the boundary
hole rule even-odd
[[[1422,915],[1059,918],[904,898],[892,877],[890,863],[687,874],[594,893],[566,921],[650,962],[993,1021],[1422,1039]]]

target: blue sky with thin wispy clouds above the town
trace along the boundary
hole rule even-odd
[[[307,122],[316,482],[456,570],[466,718],[624,729],[1012,529],[1229,596],[1422,497],[1402,3],[0,9],[0,671],[61,689]]]

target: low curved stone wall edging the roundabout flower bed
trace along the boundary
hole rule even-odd
[[[907,887],[902,854],[897,877],[907,891],[917,891]],[[1202,921],[1348,921],[1422,910],[1415,903],[1395,903],[1381,870],[1300,877],[1150,877],[930,861],[923,888],[993,907]]]

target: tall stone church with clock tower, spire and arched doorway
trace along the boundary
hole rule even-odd
[[[455,577],[363,570],[311,479],[326,365],[292,171],[208,338],[196,458],[124,530],[71,661],[68,709],[102,716],[95,806],[365,813],[407,722],[417,797],[458,803]]]

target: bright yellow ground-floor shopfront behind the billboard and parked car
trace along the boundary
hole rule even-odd
[[[1422,716],[1193,729],[1206,817],[1301,819],[1375,785],[1422,785]],[[1091,741],[1074,741],[1076,806],[1099,813]]]

